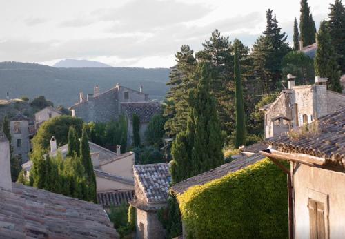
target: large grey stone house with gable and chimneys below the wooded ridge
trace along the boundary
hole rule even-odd
[[[82,118],[85,122],[116,121],[121,115],[120,103],[145,102],[148,94],[132,90],[117,84],[110,90],[100,93],[99,87],[94,88],[93,94],[83,92],[79,94],[79,103],[70,107],[72,116]]]

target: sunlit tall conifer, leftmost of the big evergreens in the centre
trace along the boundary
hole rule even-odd
[[[188,45],[182,45],[175,54],[177,65],[172,68],[167,85],[170,90],[166,94],[164,116],[167,121],[164,125],[166,134],[170,137],[186,130],[188,117],[188,89],[195,87],[193,80],[197,61],[194,51]]]

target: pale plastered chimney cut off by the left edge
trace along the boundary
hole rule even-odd
[[[10,142],[0,131],[0,188],[12,191]]]

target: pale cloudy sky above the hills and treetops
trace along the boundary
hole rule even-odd
[[[0,0],[0,61],[53,65],[87,59],[114,67],[171,67],[181,45],[197,52],[216,28],[250,46],[268,8],[292,43],[299,0]],[[313,19],[334,0],[308,0]]]

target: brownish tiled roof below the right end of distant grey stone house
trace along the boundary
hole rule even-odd
[[[140,123],[148,123],[152,116],[161,113],[161,103],[157,101],[121,103],[121,111],[130,119],[133,114],[137,114]]]

